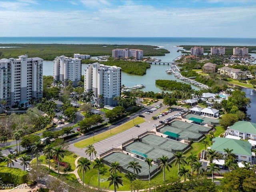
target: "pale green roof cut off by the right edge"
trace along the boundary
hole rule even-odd
[[[256,123],[252,123],[249,121],[238,121],[234,125],[230,126],[230,129],[256,135]]]

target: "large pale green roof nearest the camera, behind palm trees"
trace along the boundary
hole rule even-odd
[[[252,156],[251,144],[248,141],[216,137],[212,139],[212,150],[224,153],[224,149],[233,149],[234,154]]]

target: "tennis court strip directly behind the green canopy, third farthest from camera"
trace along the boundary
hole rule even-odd
[[[202,137],[202,134],[200,134],[200,133],[191,132],[188,130],[181,130],[181,129],[178,129],[178,128],[172,127],[172,126],[164,126],[163,128],[160,129],[160,133],[164,133],[166,131],[179,134],[180,138],[184,139],[184,140],[189,140],[189,138],[199,139],[200,137]]]

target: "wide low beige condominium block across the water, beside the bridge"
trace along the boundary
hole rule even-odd
[[[143,51],[139,49],[114,49],[112,50],[113,58],[129,58],[134,57],[137,60],[143,58]]]

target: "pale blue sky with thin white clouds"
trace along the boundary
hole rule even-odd
[[[256,38],[256,0],[0,0],[0,36]]]

